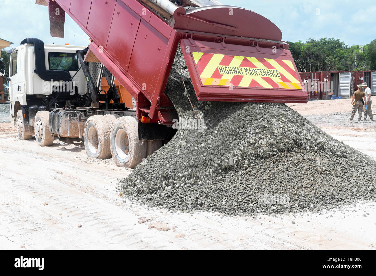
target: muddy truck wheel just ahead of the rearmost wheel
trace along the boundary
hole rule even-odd
[[[110,134],[112,124],[102,115],[89,117],[85,123],[83,142],[86,154],[91,158],[111,158]]]

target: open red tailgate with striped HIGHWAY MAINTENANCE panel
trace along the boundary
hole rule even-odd
[[[197,99],[307,103],[290,51],[180,40]]]

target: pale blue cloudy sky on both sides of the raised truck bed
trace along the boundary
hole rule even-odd
[[[376,2],[372,0],[220,2],[247,8],[268,18],[282,31],[284,41],[305,42],[309,38],[334,37],[351,46],[368,44],[376,39]],[[14,42],[12,48],[27,37],[39,38],[45,44],[86,46],[89,43],[88,36],[68,15],[65,38],[51,37],[48,8],[35,5],[35,0],[0,0],[0,14],[0,38]]]

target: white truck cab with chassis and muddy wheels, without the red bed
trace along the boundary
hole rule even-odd
[[[44,45],[37,38],[26,38],[12,49],[11,122],[17,127],[20,140],[35,137],[40,146],[51,146],[56,136],[83,138],[89,157],[114,156],[118,166],[133,168],[161,147],[162,139],[149,142],[147,150],[146,141],[138,139],[136,110],[125,106],[119,91],[124,99],[130,94],[120,86],[117,90],[115,76],[99,60],[87,56],[88,49]],[[103,86],[102,75],[107,81]],[[110,138],[113,125],[120,133],[116,139]],[[132,134],[128,137],[127,133]],[[135,145],[132,151],[130,144]],[[113,154],[114,149],[119,154]]]

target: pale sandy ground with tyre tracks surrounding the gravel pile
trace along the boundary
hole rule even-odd
[[[371,122],[326,122],[333,113],[345,118],[348,101],[288,106],[376,158]],[[256,220],[170,213],[119,196],[117,178],[131,170],[114,166],[111,159],[88,158],[80,140],[55,139],[52,147],[41,148],[33,140],[19,141],[15,128],[1,123],[0,145],[0,249],[376,250],[375,202]]]

